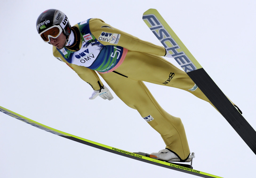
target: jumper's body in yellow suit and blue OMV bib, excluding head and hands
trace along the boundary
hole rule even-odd
[[[163,110],[143,81],[179,88],[209,100],[184,71],[161,57],[166,54],[165,48],[97,18],[80,22],[71,29],[76,46],[61,50],[53,46],[53,55],[67,63],[94,90],[103,86],[97,73],[101,75],[127,106],[136,109],[160,133],[166,148],[186,160],[190,150],[181,119]]]

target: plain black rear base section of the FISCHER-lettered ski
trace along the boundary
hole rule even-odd
[[[256,132],[203,68],[187,72],[238,135],[256,154]]]

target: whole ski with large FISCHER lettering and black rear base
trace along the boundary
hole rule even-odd
[[[223,94],[158,11],[156,9],[149,9],[143,14],[142,19],[181,68],[195,82],[196,85],[191,90],[199,87],[256,154],[256,132],[253,127],[245,120],[238,109],[234,107],[226,95]]]

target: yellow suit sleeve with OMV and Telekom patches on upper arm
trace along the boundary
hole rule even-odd
[[[93,36],[98,40],[102,32],[121,34],[118,44],[111,44],[109,42],[99,40],[104,45],[117,45],[130,51],[151,53],[159,56],[164,56],[166,54],[165,48],[163,46],[158,46],[153,43],[143,41],[137,37],[134,37],[133,35],[110,26],[101,19],[90,19],[89,27]]]

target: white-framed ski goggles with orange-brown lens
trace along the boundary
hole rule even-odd
[[[44,42],[49,43],[50,42],[50,37],[51,38],[57,38],[62,32],[62,28],[59,25],[54,25],[41,33],[39,35],[43,39]]]

